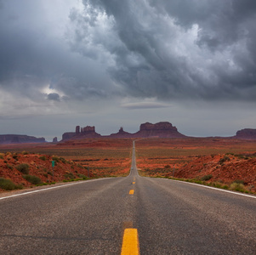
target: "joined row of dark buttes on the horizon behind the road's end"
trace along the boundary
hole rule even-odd
[[[111,133],[111,135],[101,136],[100,133],[95,132],[95,127],[76,127],[76,132],[63,133],[62,141],[68,139],[83,139],[83,138],[184,138],[184,134],[179,133],[177,128],[169,122],[158,122],[151,124],[146,122],[141,124],[137,133],[128,133],[120,127],[118,133]]]

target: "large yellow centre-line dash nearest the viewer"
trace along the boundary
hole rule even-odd
[[[124,229],[121,255],[139,255],[139,237],[137,229]]]

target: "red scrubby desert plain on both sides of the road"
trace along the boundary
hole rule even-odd
[[[256,140],[224,138],[84,138],[58,144],[5,144],[0,147],[0,177],[14,186],[2,186],[1,191],[127,176],[133,140],[141,176],[256,192]]]

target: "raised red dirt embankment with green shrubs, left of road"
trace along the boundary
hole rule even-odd
[[[7,178],[14,184],[20,185],[20,188],[87,177],[88,170],[85,167],[73,161],[66,161],[62,157],[26,152],[0,154],[0,178]],[[3,191],[1,188],[0,190]]]

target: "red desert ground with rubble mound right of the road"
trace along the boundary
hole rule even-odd
[[[238,139],[142,139],[137,167],[144,176],[243,183],[256,192],[256,141]]]

